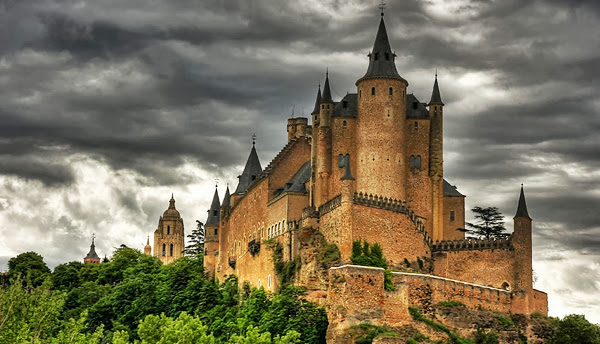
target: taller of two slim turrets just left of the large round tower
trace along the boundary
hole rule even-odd
[[[317,146],[316,152],[316,180],[315,180],[315,206],[319,207],[329,200],[328,185],[331,177],[331,115],[333,114],[333,99],[329,87],[329,71],[325,74],[325,85],[320,102],[319,113],[316,116],[315,136],[313,145]],[[314,122],[313,122],[314,123]]]

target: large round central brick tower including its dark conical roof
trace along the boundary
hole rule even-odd
[[[356,191],[406,199],[404,122],[408,82],[396,70],[383,14],[358,89]],[[354,157],[351,157],[354,159]]]

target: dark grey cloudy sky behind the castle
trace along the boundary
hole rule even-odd
[[[334,100],[356,92],[379,20],[363,0],[0,0],[0,270],[81,261],[92,234],[142,249],[171,194],[190,232],[327,68]],[[600,2],[388,0],[385,21],[408,92],[428,101],[437,70],[466,208],[512,230],[523,183],[535,288],[600,323]]]

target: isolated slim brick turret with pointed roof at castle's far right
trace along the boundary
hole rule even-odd
[[[533,309],[533,255],[531,239],[531,223],[525,203],[525,192],[521,185],[519,205],[513,218],[513,246],[515,248],[515,285],[513,286],[513,312],[529,314]]]

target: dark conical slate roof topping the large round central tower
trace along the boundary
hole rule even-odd
[[[404,80],[396,70],[396,64],[394,63],[395,58],[396,54],[392,52],[392,47],[390,46],[385,22],[383,21],[382,16],[381,21],[379,22],[377,36],[375,36],[373,51],[369,54],[369,68],[367,68],[367,73],[361,79],[389,77]]]

